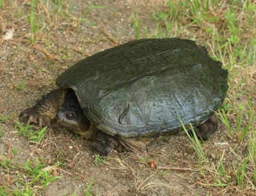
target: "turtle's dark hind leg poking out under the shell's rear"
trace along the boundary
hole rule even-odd
[[[207,140],[209,139],[218,128],[218,117],[212,114],[211,117],[204,123],[196,126],[194,128],[196,136],[198,139]]]

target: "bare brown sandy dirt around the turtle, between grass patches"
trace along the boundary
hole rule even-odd
[[[92,180],[90,193],[93,195],[216,195],[220,188],[204,185],[205,176],[200,172],[198,157],[184,134],[154,142],[148,147],[147,153],[112,151],[106,163],[95,164],[90,141],[66,130],[58,127],[48,128],[40,144],[32,144],[15,132],[15,120],[19,113],[56,87],[56,77],[84,58],[79,51],[95,54],[134,40],[134,10],[140,13],[141,23],[147,24],[149,28],[154,27],[150,1],[84,2],[77,1],[77,5],[81,3],[81,10],[87,9],[89,4],[106,7],[93,9],[88,15],[88,22],[76,27],[67,29],[65,24],[61,24],[62,20],[58,25],[52,26],[47,49],[51,56],[44,52],[44,38],[44,41],[36,43],[44,50],[31,45],[26,39],[18,40],[29,36],[29,26],[22,26],[22,22],[12,19],[11,14],[3,13],[4,24],[15,29],[13,38],[17,40],[2,40],[0,43],[0,114],[12,116],[10,120],[0,122],[0,130],[3,132],[0,137],[0,155],[13,158],[12,149],[17,148],[15,159],[21,164],[27,160],[35,163],[36,158],[47,162],[46,166],[58,161],[64,163],[57,170],[58,175],[62,176],[61,179],[47,186],[44,195],[83,195]],[[164,11],[168,9],[168,4],[154,1],[154,7]],[[79,15],[79,6],[74,8],[74,15]],[[92,23],[95,26],[92,26]],[[24,89],[20,87],[22,81],[25,84]],[[226,132],[220,128],[211,140],[203,144],[205,155],[212,163],[216,162],[217,152],[229,149],[227,145],[217,145],[227,142]],[[171,169],[152,168],[148,163],[150,160],[154,161],[157,167]],[[11,189],[15,188],[17,175],[6,174],[1,167],[0,171],[1,185],[8,184]]]

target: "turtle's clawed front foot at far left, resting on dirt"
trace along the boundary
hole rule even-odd
[[[26,109],[19,115],[19,121],[22,123],[36,123],[38,124],[39,128],[42,129],[43,124],[47,124],[47,126],[50,126],[50,121],[47,117],[40,116],[38,112],[36,111],[35,107],[32,107],[31,109]]]

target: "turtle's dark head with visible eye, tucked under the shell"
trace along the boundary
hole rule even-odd
[[[56,120],[58,124],[68,128],[68,130],[87,137],[90,121],[84,115],[75,95],[66,98],[56,114]]]

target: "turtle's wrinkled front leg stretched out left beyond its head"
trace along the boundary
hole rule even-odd
[[[43,96],[36,105],[26,109],[19,115],[19,121],[23,123],[38,123],[42,128],[43,124],[50,125],[52,119],[55,119],[60,105],[65,101],[66,89],[55,89]]]

